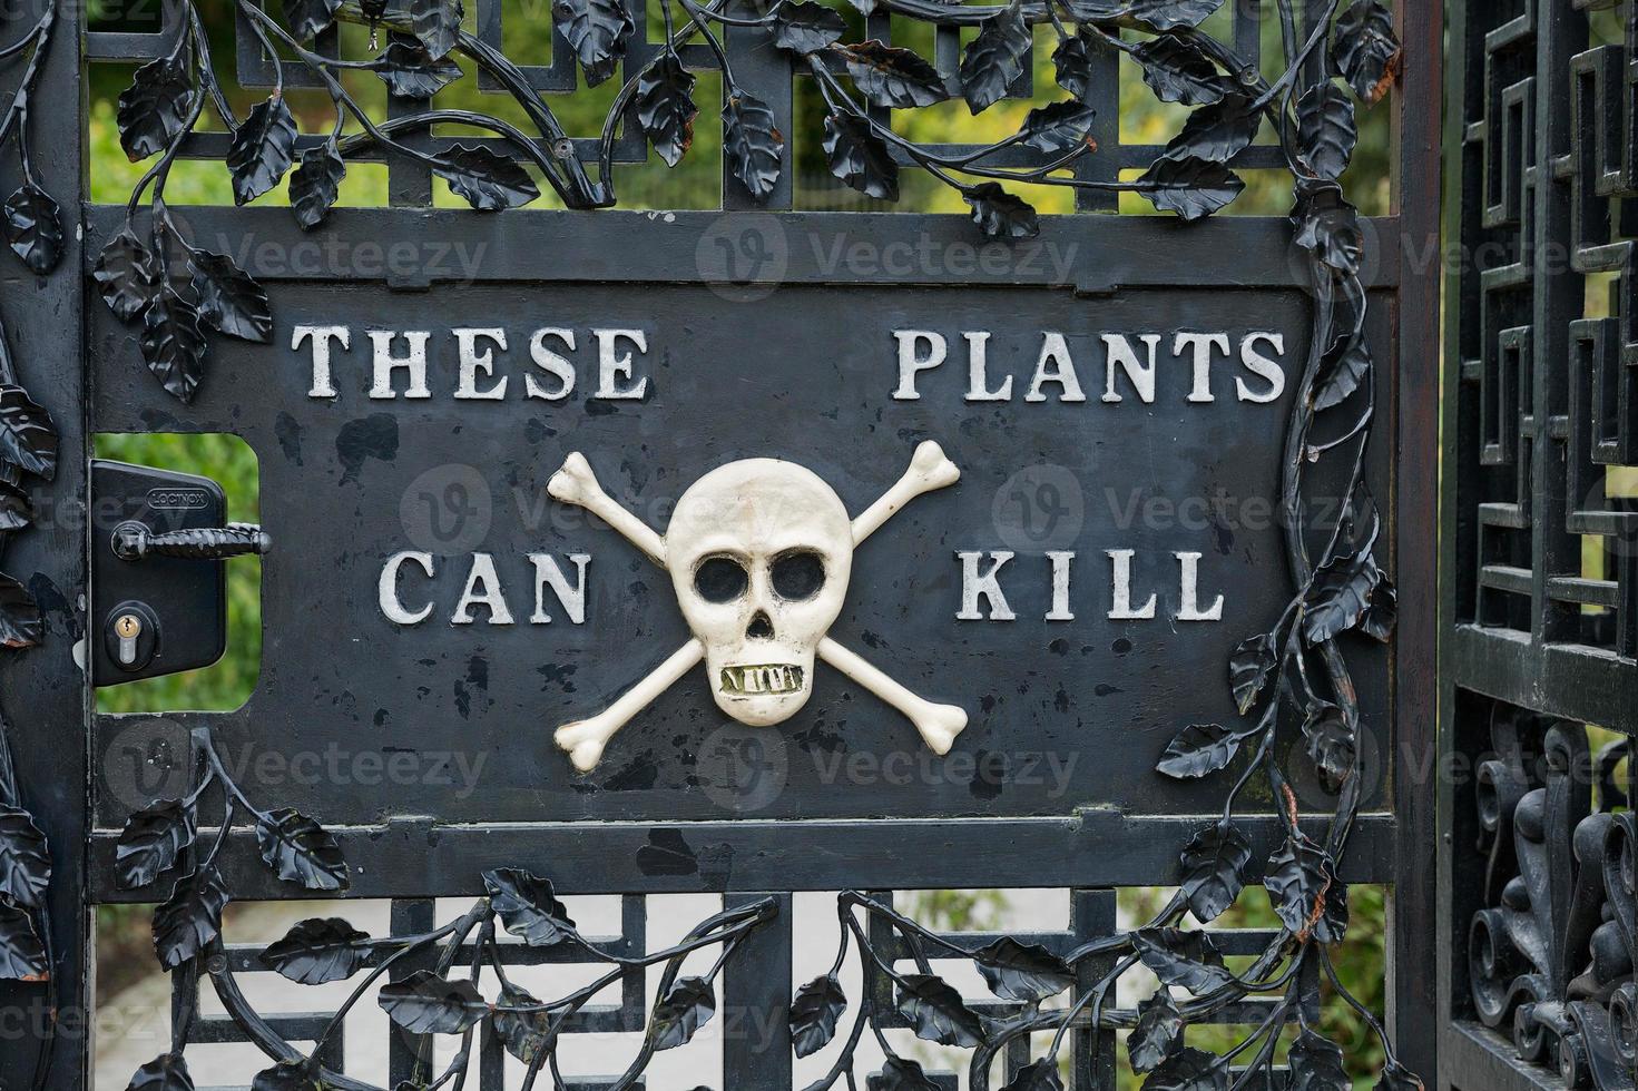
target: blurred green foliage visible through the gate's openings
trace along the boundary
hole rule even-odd
[[[103,3],[95,15],[95,29],[152,29],[151,18],[157,5],[149,0],[128,0],[129,8]],[[139,5],[139,7],[138,7]],[[231,82],[233,59],[233,25],[234,15],[228,0],[200,0],[198,3],[206,26],[213,34],[213,52],[218,72],[228,80],[229,97],[234,108],[242,116],[252,103],[265,95],[265,90],[246,90]],[[842,5],[847,8],[847,5]],[[1245,5],[1240,5],[1245,7]],[[1265,3],[1271,11],[1271,5]],[[853,39],[862,36],[858,16],[847,8],[853,23]],[[542,0],[505,0],[505,48],[514,59],[545,59],[549,56],[550,20]],[[658,8],[650,3],[650,26],[660,26]],[[470,26],[468,26],[470,29]],[[1227,38],[1227,13],[1214,16],[1206,26],[1207,31]],[[367,56],[365,31],[362,28],[344,29],[344,56]],[[904,23],[894,28],[898,44],[906,44],[929,54],[932,36],[927,28]],[[960,102],[940,106],[896,115],[896,123],[904,136],[924,143],[984,143],[1001,139],[1017,131],[1024,115],[1032,105],[1038,105],[1052,97],[1052,43],[1042,39],[1043,48],[1037,49],[1037,100],[1035,102],[1002,102],[971,118]],[[1265,69],[1269,75],[1278,75],[1278,21],[1265,20]],[[470,64],[467,66],[470,72]],[[1181,124],[1184,111],[1176,106],[1158,103],[1152,92],[1138,79],[1135,66],[1122,62],[1120,87],[1120,129],[1122,141],[1133,144],[1165,144]],[[367,72],[346,74],[349,90],[365,103],[375,116],[385,113],[385,90],[382,84]],[[129,82],[126,67],[97,67],[88,74],[90,85],[90,157],[92,157],[92,200],[98,203],[124,203],[131,187],[141,177],[147,164],[131,164],[120,149],[115,124],[115,100]],[[609,100],[616,92],[618,80],[598,88],[581,88],[575,95],[552,97],[552,108],[563,120],[570,133],[591,134],[603,124],[603,116]],[[696,124],[696,141],[688,157],[675,170],[667,170],[657,159],[647,164],[632,164],[618,169],[618,185],[621,205],[626,208],[713,208],[721,195],[721,134],[714,121],[714,103],[721,93],[721,82],[713,74],[699,74],[696,100],[701,103],[701,118]],[[292,90],[287,95],[292,110],[305,133],[328,131],[333,123],[329,98],[323,93]],[[477,110],[491,113],[509,121],[527,126],[523,113],[501,95],[480,93],[473,82],[464,80],[439,95],[439,105],[460,110]],[[1384,105],[1371,113],[1361,113],[1361,143],[1355,156],[1355,169],[1350,172],[1348,190],[1364,213],[1382,215],[1389,200],[1389,115],[1392,106]],[[206,115],[211,124],[219,126],[219,120]],[[881,208],[878,201],[868,201],[852,190],[835,182],[822,161],[817,139],[822,118],[822,103],[811,80],[798,80],[796,100],[796,133],[793,134],[798,149],[796,159],[796,201],[798,208],[809,210],[865,210]],[[347,124],[354,131],[355,123]],[[459,128],[441,131],[459,133]],[[1266,131],[1265,131],[1266,139]],[[1279,172],[1251,172],[1247,177],[1247,193],[1228,208],[1230,215],[1279,215],[1283,216],[1291,203],[1289,182]],[[439,182],[437,203],[457,206],[459,198],[449,195]],[[542,187],[545,188],[545,187]],[[1009,187],[1020,197],[1032,201],[1042,213],[1073,211],[1070,190],[1053,187]],[[228,183],[228,170],[219,162],[179,162],[172,172],[165,192],[167,201],[174,206],[185,205],[231,205],[233,195]],[[283,188],[262,198],[262,203],[287,203]],[[385,205],[387,203],[387,170],[380,165],[349,164],[347,180],[342,187],[342,205]],[[537,208],[554,206],[554,195],[545,190],[545,197],[536,203]],[[903,198],[896,208],[906,211],[940,211],[965,215],[966,205],[962,198],[943,185],[921,172],[907,170],[903,177]],[[1142,198],[1125,195],[1122,213],[1148,215],[1153,210]],[[185,210],[183,210],[185,215]],[[521,213],[527,215],[527,213]],[[596,215],[596,213],[588,213]],[[205,473],[221,482],[233,506],[231,518],[257,519],[257,467],[251,449],[229,436],[100,436],[97,454],[108,459],[121,459],[146,465],[179,469]],[[278,527],[270,527],[277,537]],[[229,565],[229,626],[231,639],[226,659],[208,670],[190,672],[170,678],[134,683],[102,690],[98,708],[103,711],[164,711],[164,709],[233,709],[242,704],[256,685],[260,665],[260,564],[254,559],[234,560]],[[1161,891],[1125,891],[1122,894],[1124,916],[1137,921],[1147,919],[1153,912]],[[919,896],[916,916],[942,927],[994,927],[1004,912],[1006,899],[994,891],[957,893]],[[1350,942],[1338,950],[1338,971],[1355,994],[1374,1011],[1382,1009],[1384,999],[1384,894],[1376,888],[1361,888],[1355,893],[1353,927]],[[1227,917],[1217,922],[1220,927],[1273,927],[1273,912],[1256,891],[1242,898]],[[100,917],[100,944],[103,948],[102,985],[108,991],[131,978],[133,973],[146,970],[146,912],[133,908],[108,908]],[[113,958],[110,958],[113,955]],[[1350,1057],[1350,1066],[1360,1075],[1360,1086],[1369,1086],[1368,1075],[1381,1063],[1381,1048],[1363,1032],[1351,1012],[1340,1004],[1332,1004],[1325,1014],[1327,1034],[1343,1045]],[[1191,1030],[1191,1042],[1202,1048],[1228,1048],[1238,1039],[1230,1037],[1237,1029],[1204,1029]],[[1124,1052],[1122,1052],[1124,1060]],[[1122,1086],[1135,1088],[1138,1080],[1122,1065]]]

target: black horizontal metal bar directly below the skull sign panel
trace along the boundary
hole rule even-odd
[[[1071,888],[1153,886],[1176,876],[1183,845],[1214,821],[1084,811],[1063,819],[393,824],[331,832],[357,865],[354,898],[459,898],[482,893],[483,870],[526,860],[550,860],[547,878],[567,894],[1034,888],[1043,875]],[[1237,822],[1255,860],[1266,860],[1283,839],[1274,816]],[[1304,819],[1304,829],[1320,839],[1327,822]],[[668,845],[663,867],[645,852],[655,835]],[[152,901],[152,890],[115,883],[118,837],[118,831],[92,835],[92,901]],[[696,853],[698,870],[678,867],[672,849],[678,837]],[[880,850],[862,852],[862,845]],[[238,899],[311,896],[274,878],[251,829],[229,835],[223,862]],[[1391,814],[1360,817],[1342,871],[1350,883],[1392,881]]]

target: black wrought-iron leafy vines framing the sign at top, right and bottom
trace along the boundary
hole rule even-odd
[[[767,198],[780,180],[785,138],[775,128],[768,106],[735,82],[732,61],[717,38],[716,28],[721,26],[765,28],[778,48],[806,66],[827,108],[824,151],[839,179],[867,195],[893,200],[898,197],[901,165],[924,169],[958,190],[971,206],[975,223],[996,238],[1024,238],[1038,231],[1035,210],[1011,193],[1004,185],[1007,182],[1125,190],[1184,220],[1214,215],[1243,190],[1232,162],[1251,146],[1265,121],[1269,123],[1294,180],[1291,223],[1297,247],[1309,257],[1307,287],[1314,298],[1310,352],[1283,464],[1283,526],[1296,593],[1274,627],[1245,641],[1233,655],[1230,685],[1243,721],[1192,726],[1170,744],[1158,763],[1158,772],[1168,776],[1206,778],[1227,773],[1242,752],[1248,752],[1250,760],[1238,765],[1222,817],[1199,831],[1184,849],[1181,890],[1152,922],[1065,957],[1011,939],[970,952],[891,906],[858,893],[842,894],[840,950],[832,971],[803,986],[796,998],[791,1009],[793,1048],[808,1057],[835,1042],[848,1007],[839,975],[850,945],[857,944],[865,967],[891,978],[898,1014],[919,1037],[973,1050],[970,1083],[980,1091],[989,1086],[989,1068],[998,1052],[1034,1032],[1055,1032],[1053,1042],[1043,1057],[1011,1075],[1006,1091],[1061,1088],[1058,1050],[1071,1029],[1088,1025],[1130,1029],[1130,1062],[1148,1076],[1150,1088],[1222,1091],[1248,1086],[1273,1070],[1281,1032],[1291,1021],[1301,1029],[1289,1050],[1296,1086],[1345,1089],[1351,1081],[1342,1050],[1314,1025],[1325,983],[1384,1039],[1389,1060],[1378,1086],[1384,1091],[1422,1086],[1394,1058],[1376,1019],[1342,986],[1330,958],[1330,947],[1345,939],[1348,927],[1346,886],[1338,878],[1338,868],[1361,801],[1360,708],[1345,641],[1355,639],[1350,636],[1355,632],[1387,641],[1396,611],[1392,583],[1376,559],[1381,518],[1364,482],[1376,405],[1374,364],[1364,339],[1366,292],[1360,277],[1364,236],[1358,213],[1340,185],[1356,143],[1355,98],[1374,105],[1397,74],[1399,41],[1382,0],[1351,0],[1346,10],[1343,0],[1322,3],[1305,34],[1297,29],[1292,0],[1279,0],[1276,10],[1286,70],[1274,80],[1266,80],[1256,66],[1243,62],[1199,29],[1222,7],[1222,0],[1012,0],[1004,7],[953,8],[932,0],[853,0],[867,13],[880,8],[927,23],[976,25],[978,33],[966,46],[953,87],[909,49],[878,41],[842,44],[847,25],[840,11],[814,0],[783,0],[747,15],[732,10],[729,0],[706,5],[676,0],[681,25],[676,25],[673,3],[662,0],[665,43],[616,95],[595,164],[581,161],[550,106],[529,88],[511,61],[460,29],[459,0],[410,0],[403,8],[388,8],[382,0],[360,0],[357,5],[351,0],[285,0],[283,23],[249,0],[236,0],[238,11],[277,72],[272,95],[242,121],[213,72],[198,11],[192,0],[175,2],[183,18],[174,21],[179,31],[170,52],[139,69],[120,100],[120,133],[126,152],[133,159],[157,159],[133,192],[124,229],[106,244],[95,278],[121,319],[141,319],[147,367],[165,390],[183,401],[193,396],[203,378],[208,329],[249,341],[269,341],[272,334],[267,292],[228,256],[195,247],[165,208],[165,180],[206,103],[233,133],[228,169],[236,200],[256,200],[288,175],[293,215],[308,229],[319,226],[336,203],[349,156],[370,144],[390,156],[424,164],[480,211],[513,208],[539,197],[539,187],[519,161],[537,167],[570,208],[614,205],[613,147],[622,126],[636,124],[667,164],[675,165],[688,151],[698,116],[695,77],[676,51],[693,38],[706,43],[722,70],[724,147],[732,172],[753,197]],[[636,26],[624,0],[557,0],[554,13],[557,33],[573,48],[586,82],[609,79]],[[303,44],[337,21],[383,28],[388,33],[387,48],[373,59],[337,59]],[[960,93],[973,113],[986,110],[1022,74],[1037,25],[1050,25],[1057,36],[1057,82],[1070,98],[1032,110],[1019,133],[978,151],[950,156],[899,136],[880,120],[885,110],[929,106],[953,93]],[[1132,41],[1127,33],[1142,39]],[[1093,124],[1088,88],[1093,56],[1099,49],[1119,49],[1130,56],[1158,98],[1192,108],[1165,154],[1132,182],[1093,182],[1065,174],[1079,159],[1096,154],[1088,138]],[[296,124],[283,102],[282,51],[319,77],[336,108],[334,128],[328,138],[305,147],[300,162]],[[339,79],[347,70],[370,70],[400,95],[428,97],[459,79],[455,54],[509,92],[537,136],[498,118],[455,110],[426,110],[377,123]],[[357,120],[360,133],[342,134],[347,116]],[[455,146],[432,154],[398,139],[442,123],[493,133],[513,149],[516,159],[495,152],[490,144]],[[1027,167],[986,162],[1002,149],[1020,146],[1034,151],[1038,162]],[[149,190],[144,241],[136,223]],[[174,265],[172,254],[182,262]],[[174,278],[174,269],[185,275]],[[1335,527],[1320,529],[1309,524],[1305,482],[1310,469],[1328,455],[1346,459],[1346,509]],[[1276,739],[1292,734],[1304,740],[1320,783],[1337,796],[1330,827],[1320,839],[1310,837],[1299,824],[1296,793],[1274,755]],[[198,747],[206,772],[195,790],[183,799],[141,811],[126,827],[120,849],[121,881],[146,886],[162,873],[185,867],[195,840],[197,803],[206,788],[218,785],[224,811],[221,832],[205,860],[187,870],[170,899],[156,912],[161,960],[172,971],[187,975],[188,985],[188,978],[208,973],[234,1017],[275,1060],[257,1078],[260,1091],[314,1084],[362,1088],[351,1078],[324,1071],[314,1060],[318,1050],[300,1053],[274,1035],[244,1003],[221,958],[219,924],[228,891],[221,883],[218,855],[238,808],[256,817],[264,860],[282,878],[310,890],[346,886],[339,849],[311,819],[288,811],[259,811],[231,781],[210,739],[200,737]],[[1202,926],[1215,921],[1240,899],[1251,880],[1251,844],[1235,821],[1235,801],[1258,775],[1266,776],[1284,827],[1284,844],[1268,860],[1263,881],[1283,929],[1248,970],[1232,973],[1207,932],[1183,926],[1189,914]],[[373,940],[341,921],[308,921],[270,947],[264,958],[292,980],[311,978],[308,983],[349,978],[370,967],[337,1014],[339,1021],[388,963],[413,952],[437,950],[436,971],[418,973],[382,993],[382,1004],[401,1025],[464,1035],[457,1063],[431,1084],[416,1086],[439,1088],[450,1081],[459,1086],[470,1058],[473,1027],[493,1021],[508,1048],[529,1063],[529,1086],[544,1068],[554,1086],[562,1088],[555,1066],[557,1035],[563,1014],[583,1006],[590,996],[581,991],[541,1004],[524,998],[503,976],[501,998],[491,1004],[472,981],[485,960],[500,970],[493,953],[496,919],[526,942],[580,944],[601,953],[575,932],[545,880],[521,871],[491,871],[485,885],[488,898],[436,932]],[[662,998],[650,1016],[640,1055],[618,1088],[632,1086],[655,1050],[681,1045],[709,1019],[714,1004],[711,980],[739,939],[770,912],[770,906],[755,906],[719,914],[701,924],[683,947],[644,960],[601,955],[611,963],[604,985],[649,965],[665,965]],[[917,973],[898,971],[893,960],[871,945],[858,914],[886,921],[909,945]],[[477,940],[468,945],[473,934]],[[678,978],[683,955],[711,944],[722,945],[722,957],[711,975]],[[449,980],[447,975],[467,955],[472,980]],[[971,1011],[955,988],[932,971],[935,957],[971,960],[998,996],[1020,1006],[1019,1014],[989,1021]],[[1094,988],[1061,1007],[1043,1007],[1071,989],[1078,963],[1111,957],[1115,960],[1114,971]],[[1158,975],[1161,991],[1135,1011],[1114,1007],[1112,988],[1138,965]],[[1174,999],[1173,989],[1189,998]],[[1214,1057],[1186,1045],[1191,1022],[1253,994],[1279,999],[1238,1047]],[[839,1081],[857,1086],[855,1053],[867,1025],[888,1057],[885,1070],[870,1078],[873,1091],[929,1091],[935,1086],[914,1060],[893,1052],[880,1025],[883,1012],[875,1009],[875,1003],[867,994],[842,1039],[835,1063],[809,1091],[824,1091]],[[192,1086],[182,1060],[185,1022],[179,1021],[182,1025],[177,1027],[172,1052],[144,1066],[131,1084],[134,1089],[183,1091]],[[1247,1055],[1250,1060],[1237,1075],[1232,1065]]]

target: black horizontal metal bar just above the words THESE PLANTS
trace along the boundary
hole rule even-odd
[[[608,282],[709,283],[709,262],[698,257],[708,233],[721,234],[719,211],[554,211],[518,210],[473,216],[455,208],[344,208],[331,213],[318,234],[303,233],[288,208],[187,206],[182,213],[195,246],[242,256],[247,272],[264,282],[367,282],[357,269],[331,262],[293,260],[310,249],[352,254],[383,246],[383,239],[459,239],[485,259],[475,269],[432,269],[432,282]],[[1291,223],[1284,216],[1220,216],[1184,224],[1173,216],[1043,216],[1040,236],[1014,242],[986,241],[963,215],[922,213],[747,213],[747,229],[780,238],[783,272],[776,262],[753,277],[765,283],[952,283],[1061,285],[1089,293],[1148,287],[1269,287],[1304,288],[1305,265],[1291,260]],[[124,224],[124,208],[87,210],[87,270],[103,244]],[[1381,239],[1399,238],[1399,220],[1369,221]],[[907,260],[875,262],[852,270],[839,265],[848,244],[868,241],[876,252],[896,247],[914,256],[932,251],[953,256],[1009,252],[1007,262]],[[249,246],[246,246],[246,242]],[[482,249],[473,249],[482,247]],[[889,249],[893,247],[893,249]],[[541,260],[550,254],[552,260]],[[1034,256],[1034,260],[1025,260]],[[1057,260],[1055,260],[1057,259]],[[305,272],[306,269],[316,272]],[[1065,274],[1065,269],[1068,270]],[[1376,262],[1366,270],[1374,288],[1397,283],[1399,262]],[[1299,275],[1302,280],[1299,282]],[[385,278],[380,272],[377,278]]]

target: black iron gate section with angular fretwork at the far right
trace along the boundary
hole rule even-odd
[[[1638,1035],[1638,5],[1468,5],[1453,43],[1441,1086],[1613,1091]]]

